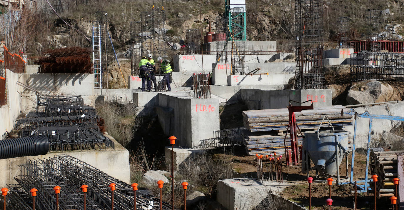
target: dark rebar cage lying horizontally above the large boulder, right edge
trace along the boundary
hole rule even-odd
[[[404,81],[404,55],[393,52],[358,52],[350,58],[352,79]]]

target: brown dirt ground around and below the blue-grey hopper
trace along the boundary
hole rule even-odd
[[[242,150],[234,149],[235,154],[238,152],[242,152]],[[241,174],[244,177],[256,178],[256,162],[255,156],[248,155],[224,155],[224,154],[215,154],[217,158],[227,159],[233,161],[233,169],[235,172]],[[351,157],[352,155],[348,155],[348,171],[350,172],[351,168]],[[281,194],[282,197],[285,197],[293,202],[296,202],[299,205],[305,206],[308,208],[309,206],[309,193],[308,193],[308,184],[306,181],[306,174],[301,173],[300,166],[288,166],[285,167],[286,162],[283,161],[283,177],[284,180],[301,182],[301,185],[295,185],[293,187],[288,187]],[[263,160],[263,170],[265,176],[268,175],[266,173],[266,162],[265,157]],[[360,177],[364,177],[366,170],[366,155],[361,155],[359,153],[355,153],[355,162],[354,162],[354,173],[353,176],[356,180],[361,180]],[[345,158],[340,166],[340,174],[341,176],[345,176]],[[310,173],[310,176],[315,176],[314,173]],[[349,174],[350,175],[350,174]],[[371,175],[371,174],[370,174]],[[311,185],[311,193],[312,193],[312,209],[313,210],[322,210],[328,209],[328,206],[325,205],[325,200],[328,198],[328,185],[325,183],[313,183]],[[353,194],[351,194],[351,190],[353,191],[353,185],[340,185],[337,187],[335,184],[332,185],[331,188],[331,198],[333,200],[332,209],[339,210],[351,210],[353,208]],[[388,198],[381,198],[377,200],[377,209],[389,209],[390,201]],[[357,201],[358,209],[373,209],[373,193],[358,193],[358,201]]]

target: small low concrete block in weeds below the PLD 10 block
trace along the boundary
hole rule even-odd
[[[198,155],[201,152],[205,152],[205,150],[174,148],[174,170],[183,167],[184,161],[189,161],[193,155]],[[171,147],[164,148],[164,158],[166,166],[171,166]]]

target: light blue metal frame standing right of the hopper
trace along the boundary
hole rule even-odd
[[[364,193],[367,192],[369,182],[372,181],[372,179],[368,179],[368,170],[369,170],[369,155],[370,155],[370,137],[372,133],[372,122],[373,119],[380,119],[380,120],[397,120],[397,121],[404,121],[404,117],[398,117],[398,116],[390,116],[390,115],[371,115],[368,111],[365,111],[362,114],[356,113],[353,109],[350,109],[347,111],[345,114],[351,114],[355,116],[355,123],[353,127],[353,145],[352,145],[352,160],[351,160],[351,178],[349,182],[344,182],[341,183],[341,185],[346,185],[346,184],[352,184],[354,185],[355,182],[353,181],[353,164],[355,162],[355,140],[356,140],[356,124],[357,124],[357,119],[358,118],[369,118],[369,131],[368,131],[368,148],[367,148],[367,153],[366,153],[366,174],[365,174],[365,179],[362,181],[357,181],[357,188],[359,189],[359,193]],[[358,183],[364,183],[363,185],[360,185]]]

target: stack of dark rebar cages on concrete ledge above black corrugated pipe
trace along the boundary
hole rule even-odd
[[[17,120],[20,137],[46,136],[50,150],[115,148],[103,135],[103,119],[81,96],[38,98],[36,112]]]

